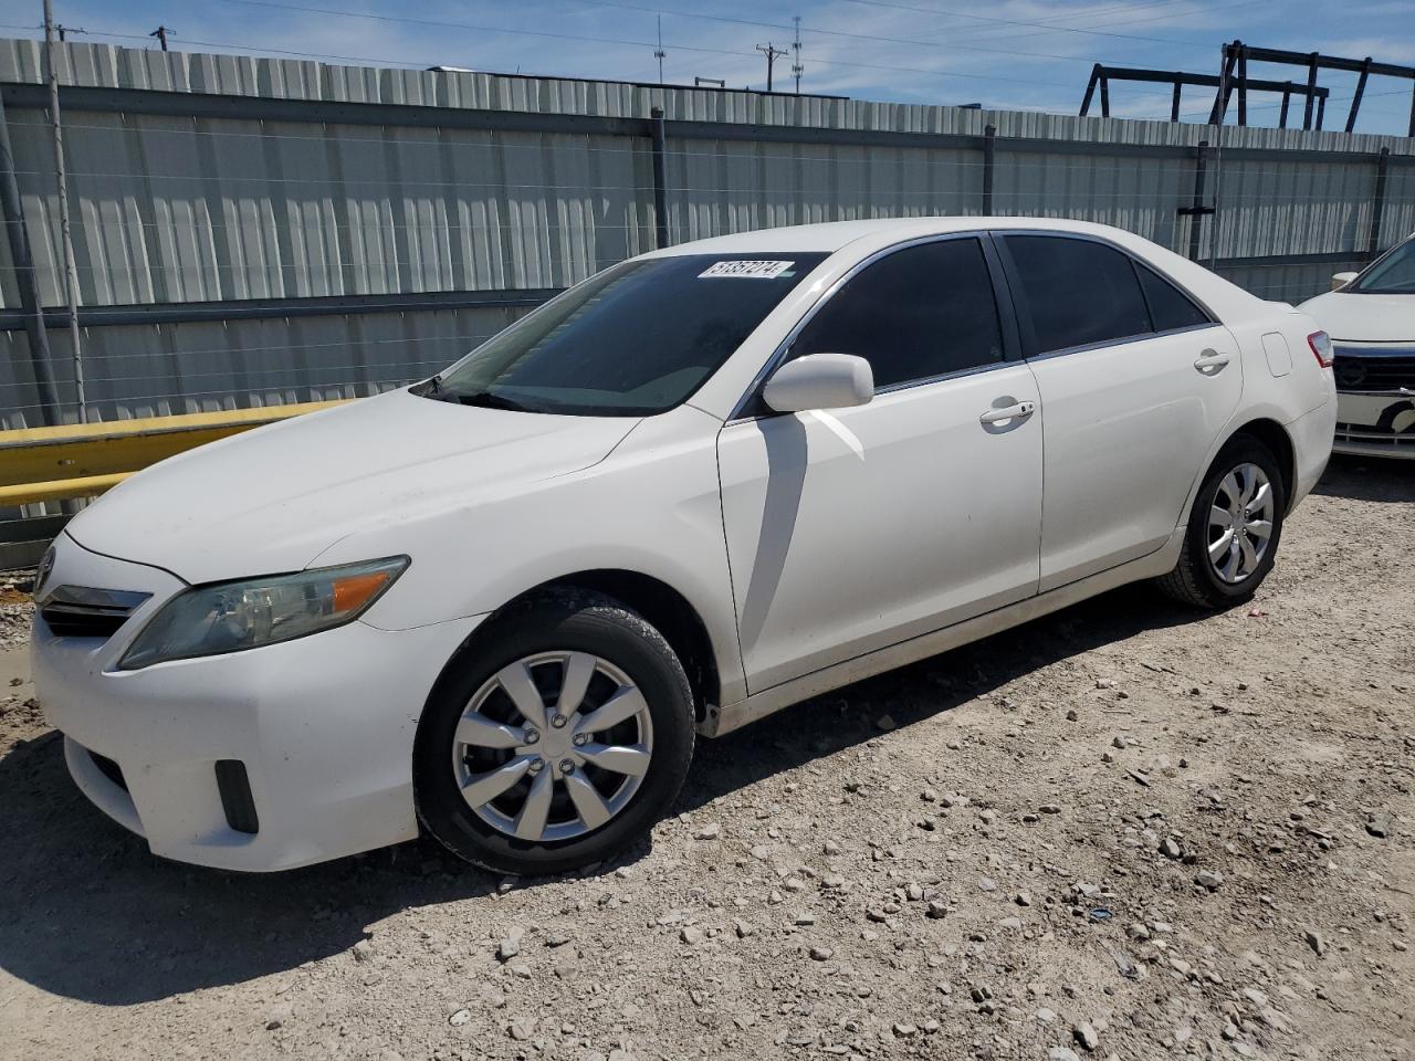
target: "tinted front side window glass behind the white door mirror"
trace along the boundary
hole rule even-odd
[[[920,243],[866,267],[821,307],[791,355],[855,354],[874,386],[1002,361],[998,304],[976,239]]]

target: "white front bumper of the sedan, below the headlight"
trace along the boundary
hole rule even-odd
[[[75,782],[154,854],[282,870],[417,835],[417,719],[480,618],[396,632],[351,622],[246,652],[116,671],[137,628],[183,583],[64,535],[55,553],[47,586],[153,594],[108,639],[57,637],[37,617],[33,656],[40,703],[64,733]],[[242,764],[255,832],[232,816],[218,763]]]

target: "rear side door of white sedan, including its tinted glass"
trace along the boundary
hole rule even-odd
[[[1160,547],[1242,392],[1227,328],[1119,248],[996,233],[1041,393],[1041,591]]]

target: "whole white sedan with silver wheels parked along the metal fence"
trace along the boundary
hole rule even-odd
[[[1247,600],[1334,416],[1306,314],[1116,229],[686,243],[113,489],[45,560],[35,682],[156,854],[426,829],[565,871],[672,809],[698,736],[1122,583]]]

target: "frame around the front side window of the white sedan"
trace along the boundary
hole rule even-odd
[[[899,253],[900,250],[907,250],[910,248],[923,246],[925,243],[944,243],[954,239],[974,239],[978,242],[983,263],[988,267],[988,277],[992,283],[992,300],[998,311],[998,330],[1002,337],[1002,358],[988,365],[974,365],[971,368],[961,368],[955,372],[944,372],[937,376],[927,376],[921,379],[908,379],[901,383],[890,383],[876,389],[876,395],[893,395],[900,390],[908,390],[918,386],[928,386],[931,383],[938,383],[947,379],[958,379],[959,376],[971,376],[979,372],[992,372],[999,368],[1006,368],[1009,365],[1020,364],[1023,361],[1024,351],[1022,347],[1022,335],[1017,328],[1016,310],[1012,300],[1012,291],[1007,283],[1006,270],[999,257],[999,250],[992,238],[992,232],[988,229],[971,229],[968,232],[940,232],[930,236],[916,236],[914,239],[906,239],[899,243],[890,243],[886,248],[880,248],[873,253],[862,257],[853,266],[850,266],[843,274],[841,274],[835,283],[832,283],[811,307],[801,314],[801,318],[791,325],[791,330],[785,334],[785,338],[777,344],[777,348],[767,358],[767,362],[757,372],[756,378],[743,392],[737,405],[733,407],[732,414],[727,417],[726,424],[744,423],[749,420],[763,420],[775,416],[785,416],[785,413],[778,413],[774,409],[766,407],[761,400],[761,392],[766,389],[767,381],[771,375],[787,362],[791,347],[799,338],[805,327],[815,318],[826,303],[835,298],[836,294],[856,276],[869,269],[876,262],[880,262],[890,255]],[[843,248],[842,248],[843,249]],[[829,259],[826,259],[829,260]],[[824,265],[824,262],[822,262]]]

